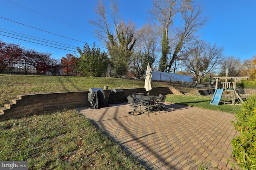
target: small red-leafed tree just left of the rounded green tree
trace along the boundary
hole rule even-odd
[[[60,63],[67,75],[74,75],[77,63],[77,58],[74,55],[67,54],[66,57],[60,59]]]

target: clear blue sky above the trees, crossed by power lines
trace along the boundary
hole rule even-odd
[[[256,55],[255,0],[202,0],[201,2],[205,14],[210,17],[206,27],[201,30],[202,39],[223,46],[226,56],[244,60]],[[0,39],[4,42],[21,43],[21,46],[27,49],[48,51],[56,59],[66,57],[68,53],[74,54],[72,51],[76,51],[76,47],[83,47],[85,42],[89,44],[96,42],[96,45],[104,50],[93,35],[94,27],[88,23],[88,20],[95,17],[93,9],[96,3],[97,0],[0,0]],[[151,0],[120,0],[120,14],[126,21],[132,20],[136,23],[138,28],[147,22],[147,10],[150,7]],[[19,33],[25,34],[22,35],[25,37],[33,36],[30,37],[33,39],[41,38],[41,41],[54,41],[50,43],[61,46],[16,36],[21,35]]]

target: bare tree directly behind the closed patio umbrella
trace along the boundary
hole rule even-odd
[[[152,70],[156,67],[158,56],[159,31],[152,27],[150,23],[144,24],[137,32],[138,40],[135,45],[136,52],[132,54],[130,68],[132,68],[138,78],[144,75],[148,63]]]

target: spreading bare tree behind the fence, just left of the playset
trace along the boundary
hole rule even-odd
[[[184,66],[192,73],[198,82],[208,73],[214,72],[214,68],[224,58],[223,47],[211,45],[205,41],[195,41],[184,54]]]

